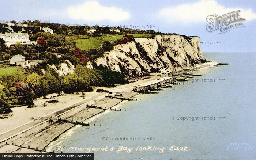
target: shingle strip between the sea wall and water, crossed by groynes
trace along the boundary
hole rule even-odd
[[[196,69],[193,69],[193,70],[192,69],[185,70],[185,73],[190,73],[197,69],[205,69],[208,67],[212,67],[214,66],[214,64],[215,64],[214,62],[207,62],[206,64],[202,64],[199,68],[196,67]],[[178,71],[178,72],[182,72],[182,71]],[[175,76],[175,77],[178,77],[178,76]],[[185,79],[188,79],[189,77],[190,76],[188,76],[187,78],[180,77],[179,79],[185,80]],[[114,94],[122,94],[123,97],[125,98],[131,98],[134,96],[141,95],[138,92],[133,92],[132,89],[136,87],[154,85],[165,79],[170,79],[170,78],[171,78],[170,76],[166,77],[163,75],[151,76],[150,78],[146,78],[146,79],[145,77],[141,77],[139,80],[135,82],[125,84],[125,85],[120,85],[110,89],[108,88],[108,90],[113,92]],[[101,89],[102,88],[104,87],[101,87]],[[86,92],[86,95],[87,95],[87,92]],[[107,95],[106,93],[101,93],[99,95],[100,96],[97,96],[96,100],[86,99],[87,100],[86,103],[94,101],[95,103],[91,102],[94,106],[95,105],[103,106],[109,109],[109,108],[121,107],[123,103],[127,102],[125,100],[120,100],[115,98],[106,98],[105,97]],[[101,115],[110,112],[102,109],[84,107],[86,103],[75,106],[70,110],[64,111],[63,113],[59,114],[58,117],[67,118],[67,119],[70,118],[70,120],[72,121],[89,123],[89,122],[93,122],[95,118],[98,118]],[[89,105],[92,105],[92,104],[89,104]],[[64,107],[64,108],[67,108],[67,107]],[[52,144],[54,144],[56,140],[59,140],[61,136],[63,135],[65,136],[65,134],[69,133],[70,130],[73,130],[74,128],[76,128],[76,126],[77,125],[71,124],[71,123],[55,122],[55,123],[52,123],[51,125],[31,128],[26,132],[22,132],[6,140],[5,142],[8,142],[8,145],[4,145],[4,142],[1,142],[0,151],[6,152],[6,153],[13,153],[13,152],[31,153],[32,152],[31,148],[38,147],[38,150],[37,151],[33,150],[33,153],[44,153],[46,148],[47,148],[46,151],[50,152],[49,150],[52,149],[54,146],[56,146],[56,145],[52,146]],[[12,143],[14,145],[11,145]],[[15,145],[18,145],[18,146],[15,146]],[[21,145],[21,147],[19,145]]]

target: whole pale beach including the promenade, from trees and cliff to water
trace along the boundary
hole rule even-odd
[[[196,69],[204,69],[218,64],[217,62],[207,62]],[[179,71],[182,73],[190,73],[195,69],[187,69]],[[175,72],[174,72],[175,73]],[[189,75],[176,75],[176,79],[187,79]],[[114,88],[96,87],[96,89],[104,89],[112,92],[113,96],[122,96],[124,98],[132,98],[138,96],[138,92],[133,92],[134,88],[141,86],[149,86],[160,83],[165,80],[173,80],[168,75],[150,75],[140,77],[136,81],[119,85]],[[177,81],[177,80],[175,80]],[[65,123],[57,121],[58,118],[71,121],[91,123],[96,116],[109,112],[100,108],[89,108],[87,104],[93,106],[101,106],[102,108],[114,109],[120,106],[122,99],[106,98],[109,93],[105,92],[86,92],[85,99],[82,95],[64,95],[51,99],[38,99],[35,103],[42,104],[49,100],[58,100],[57,103],[48,103],[46,107],[13,108],[12,117],[0,119],[0,152],[1,153],[42,153],[46,148],[54,150],[56,142],[51,143],[61,136],[66,135],[67,131],[74,130],[73,123]],[[136,97],[136,99],[139,97]],[[33,118],[31,118],[33,117]],[[36,118],[37,117],[37,118]],[[93,127],[93,126],[85,126]],[[2,130],[3,129],[3,130]],[[63,134],[64,133],[64,134]],[[60,141],[59,141],[60,142]],[[6,144],[7,143],[7,144]]]

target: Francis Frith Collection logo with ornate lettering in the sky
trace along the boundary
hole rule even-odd
[[[206,25],[206,30],[208,32],[219,31],[220,34],[226,33],[235,28],[245,27],[243,24],[245,19],[240,17],[240,12],[240,10],[237,10],[223,15],[208,15],[206,20],[209,24]]]

